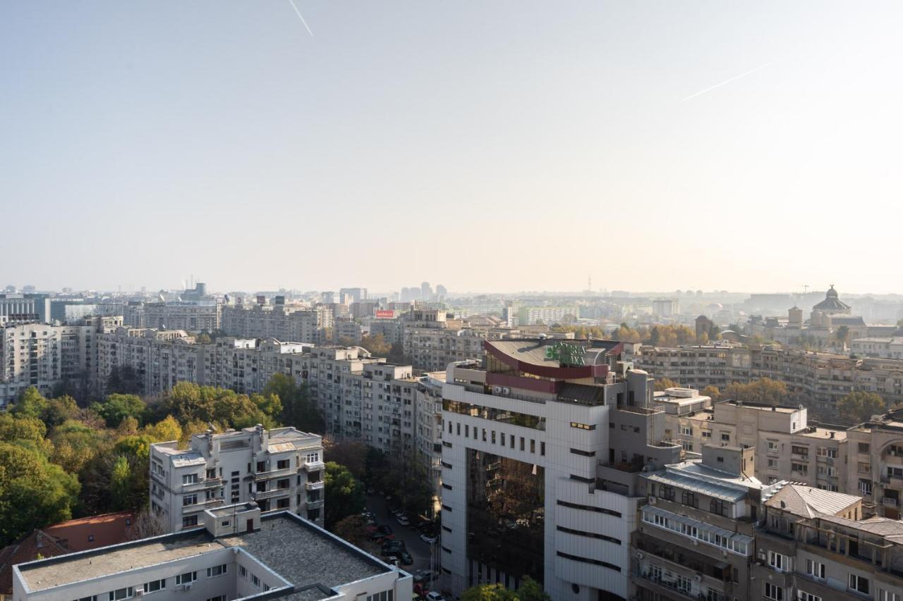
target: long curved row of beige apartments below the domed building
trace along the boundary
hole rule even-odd
[[[699,390],[763,377],[779,380],[795,402],[805,402],[822,420],[836,417],[837,402],[853,391],[878,393],[888,405],[903,402],[903,360],[731,345],[640,346],[629,358],[656,378]]]

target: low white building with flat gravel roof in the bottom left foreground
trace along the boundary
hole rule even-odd
[[[15,566],[13,597],[410,601],[412,579],[293,513],[231,504],[191,530]]]

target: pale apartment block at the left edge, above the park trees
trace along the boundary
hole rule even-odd
[[[98,341],[121,318],[94,318],[75,326],[42,323],[0,328],[0,407],[15,402],[34,386],[51,394],[57,384],[93,387],[97,379]]]

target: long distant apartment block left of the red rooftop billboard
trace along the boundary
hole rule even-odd
[[[240,338],[329,344],[325,330],[332,328],[332,321],[332,311],[323,306],[254,305],[224,307],[222,311],[223,332]]]

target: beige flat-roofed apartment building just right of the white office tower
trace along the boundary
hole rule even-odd
[[[703,445],[754,448],[755,471],[766,484],[803,482],[823,490],[852,493],[847,473],[847,432],[810,426],[805,407],[724,401],[713,405],[696,391],[668,389],[656,403],[666,409],[666,440],[684,451]],[[690,401],[697,401],[695,404]]]

